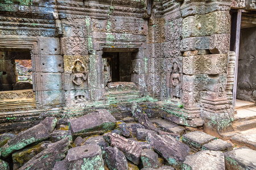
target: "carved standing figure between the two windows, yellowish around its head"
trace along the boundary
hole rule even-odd
[[[84,90],[84,81],[87,79],[87,73],[81,71],[81,63],[77,61],[75,63],[75,68],[73,69],[72,82],[75,84],[75,103],[80,101],[86,101],[86,94]]]

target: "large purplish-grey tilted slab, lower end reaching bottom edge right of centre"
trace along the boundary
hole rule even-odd
[[[189,155],[190,148],[169,135],[160,136],[148,133],[147,142],[154,150],[174,168],[179,169],[185,157]]]

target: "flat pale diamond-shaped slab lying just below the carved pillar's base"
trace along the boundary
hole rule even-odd
[[[205,143],[209,143],[216,139],[212,135],[204,133],[203,131],[192,131],[183,135],[182,141],[192,148],[194,151],[200,151]]]

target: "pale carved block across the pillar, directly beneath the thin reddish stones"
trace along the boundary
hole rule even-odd
[[[183,57],[184,74],[226,73],[228,57],[226,54]]]

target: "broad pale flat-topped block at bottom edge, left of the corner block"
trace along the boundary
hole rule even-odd
[[[199,151],[195,154],[188,155],[182,164],[182,169],[197,170],[225,170],[224,154],[220,151]]]

